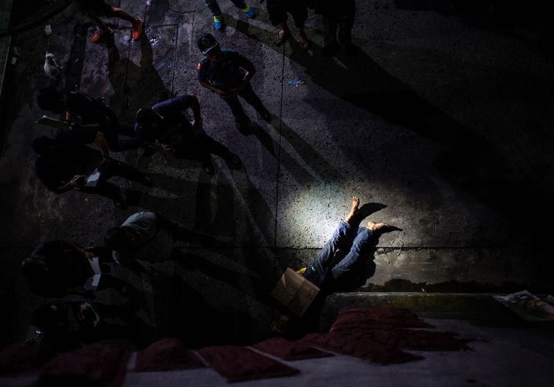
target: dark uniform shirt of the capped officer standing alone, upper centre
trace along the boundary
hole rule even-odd
[[[220,89],[233,89],[242,84],[245,71],[254,71],[254,65],[247,57],[235,50],[222,50],[221,62],[202,57],[197,66],[200,82],[208,82]]]

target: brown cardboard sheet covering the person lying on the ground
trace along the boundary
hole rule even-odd
[[[287,267],[271,296],[302,317],[318,292],[319,287]]]

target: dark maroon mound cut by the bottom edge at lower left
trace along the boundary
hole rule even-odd
[[[115,345],[96,343],[57,355],[46,363],[39,387],[123,385],[129,352]]]

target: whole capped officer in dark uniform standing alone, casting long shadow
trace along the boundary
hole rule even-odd
[[[238,96],[256,109],[262,119],[270,122],[269,111],[250,85],[250,78],[256,73],[252,62],[238,51],[222,50],[215,37],[208,33],[199,35],[197,44],[206,55],[197,66],[198,80],[203,87],[216,93],[231,107],[237,129],[242,131],[249,123]]]

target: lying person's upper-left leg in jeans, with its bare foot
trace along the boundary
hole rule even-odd
[[[330,240],[323,246],[323,249],[317,253],[314,260],[307,265],[307,269],[303,276],[310,280],[315,285],[321,285],[325,280],[330,264],[332,264],[333,258],[337,254],[339,249],[345,249],[352,243],[355,233],[357,232],[357,226],[353,219],[357,215],[359,206],[359,199],[352,197],[352,207],[350,213],[346,216],[346,219],[342,220],[334,231]]]

